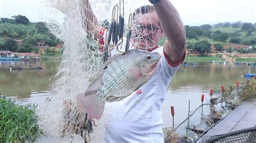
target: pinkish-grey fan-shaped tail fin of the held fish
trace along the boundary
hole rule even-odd
[[[106,101],[104,99],[100,99],[96,92],[89,91],[85,93],[76,96],[79,106],[91,118],[100,119],[103,115]]]

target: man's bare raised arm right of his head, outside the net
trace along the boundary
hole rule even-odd
[[[178,12],[168,0],[153,4],[167,40],[164,52],[173,65],[179,64],[185,52],[186,32]]]

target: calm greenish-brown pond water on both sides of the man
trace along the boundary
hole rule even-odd
[[[43,105],[49,97],[48,89],[51,76],[56,74],[60,61],[0,61],[0,93],[18,99],[19,104],[37,103]],[[9,66],[35,65],[42,70],[12,70]],[[174,124],[179,124],[188,114],[188,100],[191,111],[201,104],[201,94],[205,101],[210,100],[208,91],[221,83],[235,85],[235,81],[245,82],[241,77],[245,73],[255,73],[253,66],[221,65],[210,62],[198,62],[196,66],[181,66],[172,78],[162,106],[163,127],[172,126],[170,106],[174,106]],[[219,87],[220,88],[220,87]],[[227,88],[227,87],[225,87]],[[198,124],[194,118],[194,124]]]

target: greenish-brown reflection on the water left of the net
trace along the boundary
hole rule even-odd
[[[29,98],[33,92],[45,93],[49,80],[57,71],[60,61],[0,61],[0,92],[17,99]],[[42,70],[12,70],[9,66],[41,66]]]

